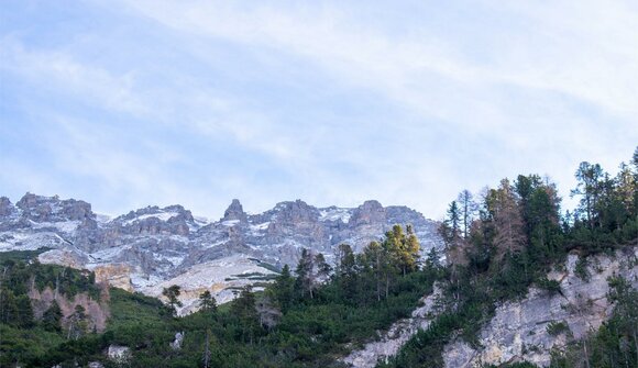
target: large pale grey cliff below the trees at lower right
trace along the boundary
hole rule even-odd
[[[574,338],[596,331],[609,317],[613,305],[607,300],[607,278],[622,276],[638,288],[638,248],[615,257],[597,256],[590,260],[587,281],[575,275],[578,255],[569,256],[565,270],[553,271],[548,278],[558,280],[562,294],[550,295],[530,288],[519,302],[505,303],[481,332],[482,349],[475,350],[457,341],[446,347],[446,367],[481,367],[506,363],[530,361],[548,367],[552,348],[564,347],[568,333],[552,336],[550,322],[564,322]]]

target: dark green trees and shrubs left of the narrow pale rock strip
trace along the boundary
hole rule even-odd
[[[201,367],[205,361],[208,367],[334,365],[336,357],[348,352],[346,346],[361,346],[377,331],[408,316],[418,300],[432,291],[435,280],[444,277],[436,260],[418,267],[418,247],[410,227],[405,232],[395,226],[361,255],[342,245],[334,271],[322,255],[305,250],[297,277],[285,266],[264,292],[241,289],[238,299],[220,308],[205,292],[201,310],[184,317],[174,316],[179,306],[177,286],[164,290],[166,305],[140,293],[111,289],[111,316],[100,334],[86,331],[88,316],[81,306],[63,317],[54,303],[42,319],[25,312],[29,323],[2,324],[0,366],[109,365],[102,352],[111,344],[131,348],[132,367]],[[98,288],[88,285],[91,275],[85,271],[34,261],[8,261],[6,267],[10,271],[3,290],[16,294],[26,291],[30,276],[46,275],[43,286],[69,279],[77,286],[66,291],[99,297]],[[183,346],[169,348],[177,332],[185,333]],[[46,342],[41,344],[33,333],[47,336]]]

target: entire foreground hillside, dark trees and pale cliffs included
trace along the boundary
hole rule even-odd
[[[581,164],[573,212],[536,175],[462,191],[444,257],[395,225],[332,259],[301,248],[231,302],[193,294],[185,316],[178,285],[161,302],[37,261],[48,249],[0,253],[0,365],[637,367],[638,149],[620,167]]]

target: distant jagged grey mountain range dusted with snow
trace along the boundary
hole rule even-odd
[[[128,290],[156,297],[174,282],[185,295],[208,289],[228,300],[235,288],[267,280],[285,264],[294,267],[304,247],[330,261],[339,244],[360,250],[394,224],[411,224],[424,252],[442,246],[436,222],[377,201],[321,209],[296,200],[246,214],[235,199],[222,219],[205,221],[182,205],[147,207],[106,219],[84,201],[26,193],[15,204],[0,198],[0,252],[48,247],[40,255],[42,263],[88,268],[98,280]],[[216,274],[202,275],[202,267]],[[193,300],[185,304],[196,308]]]

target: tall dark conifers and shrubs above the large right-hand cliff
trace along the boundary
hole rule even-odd
[[[468,191],[461,192],[450,203],[440,228],[451,263],[450,282],[444,290],[446,310],[428,330],[413,336],[396,357],[378,366],[441,367],[442,349],[451,338],[460,336],[477,346],[476,333],[491,319],[496,304],[524,297],[532,282],[550,293],[560,293],[560,285],[546,275],[553,265],[564,261],[569,252],[581,254],[575,271],[586,280],[587,256],[638,245],[638,148],[631,165],[622,164],[615,178],[600,165],[582,163],[576,179],[572,194],[581,201],[573,213],[566,211],[564,215],[559,211],[556,186],[536,175],[518,176],[514,183],[504,179],[498,188],[486,190],[480,202],[473,202]],[[624,297],[616,299],[623,313],[616,314],[622,315],[618,319],[625,330],[618,335],[622,328],[616,327],[614,316],[598,335],[609,325],[616,328],[615,337],[596,337],[598,346],[608,347],[612,353],[594,348],[593,342],[573,343],[576,348],[582,347],[581,357],[600,364],[587,367],[638,364],[638,326],[630,323],[638,298],[634,295],[630,303],[628,290],[636,290],[630,287],[623,290],[617,294]],[[558,334],[564,332],[562,327],[556,323],[548,331]],[[612,348],[613,344],[616,345]],[[619,346],[622,352],[617,352]],[[575,361],[568,355],[569,352],[554,352],[554,360],[564,363],[556,366],[576,367],[565,363]],[[619,361],[620,356],[631,357],[618,365],[604,363],[604,359]]]

